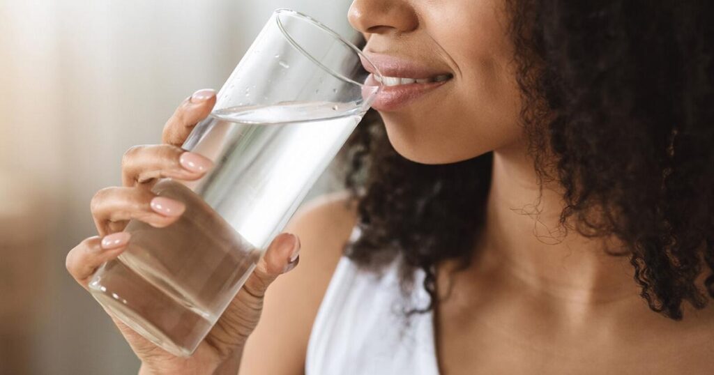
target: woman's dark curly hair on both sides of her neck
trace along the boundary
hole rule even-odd
[[[507,4],[522,125],[540,181],[565,191],[560,224],[620,239],[653,311],[680,320],[683,301],[703,308],[714,296],[714,2]],[[436,264],[473,255],[491,153],[409,161],[371,112],[341,157],[362,233],[346,256],[371,269],[400,256],[405,288],[423,269],[431,303],[418,311],[433,309]]]

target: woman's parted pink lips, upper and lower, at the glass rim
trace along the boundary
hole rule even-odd
[[[444,69],[437,69],[426,64],[421,64],[413,60],[401,59],[396,56],[386,54],[366,54],[369,61],[362,60],[364,69],[371,74],[366,82],[368,85],[377,86],[379,83],[374,79],[375,67],[382,76],[406,77],[413,79],[428,79],[442,74],[451,75],[453,73]],[[372,108],[377,111],[396,111],[403,108],[411,101],[414,101],[424,94],[437,89],[451,79],[441,82],[426,82],[423,84],[413,83],[398,86],[383,86],[372,102]]]

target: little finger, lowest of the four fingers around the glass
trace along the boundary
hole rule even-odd
[[[126,250],[126,244],[129,244],[130,238],[131,234],[119,232],[106,236],[104,239],[94,236],[81,241],[67,254],[65,261],[67,271],[86,289],[87,283],[97,267],[105,261],[116,258]]]

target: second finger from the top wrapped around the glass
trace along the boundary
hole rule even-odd
[[[157,179],[171,177],[185,181],[201,178],[211,169],[211,160],[169,144],[131,147],[121,159],[124,186],[151,186]]]

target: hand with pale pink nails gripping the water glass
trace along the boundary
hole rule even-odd
[[[211,168],[210,160],[184,151],[180,145],[193,126],[211,113],[215,103],[213,90],[196,91],[184,100],[164,126],[164,144],[129,149],[121,164],[124,186],[101,189],[94,196],[91,213],[99,236],[81,241],[69,251],[66,259],[69,273],[85,289],[101,264],[126,249],[131,235],[122,230],[129,220],[164,227],[183,214],[185,207],[180,201],[157,197],[151,187],[165,177],[183,181],[200,179]],[[236,298],[189,358],[164,351],[112,316],[114,324],[141,359],[141,373],[211,374],[229,356],[239,354],[258,324],[266,289],[278,275],[298,264],[299,249],[297,236],[286,233],[276,236]]]

